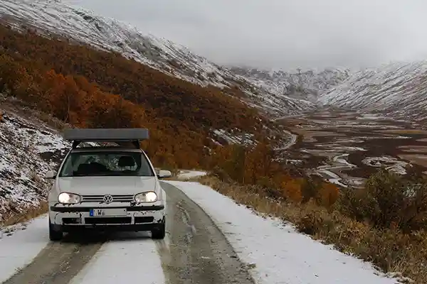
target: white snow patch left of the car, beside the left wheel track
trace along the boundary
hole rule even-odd
[[[0,231],[0,283],[31,263],[48,241],[47,215]]]

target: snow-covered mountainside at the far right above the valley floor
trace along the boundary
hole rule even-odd
[[[427,119],[427,60],[394,62],[355,72],[319,97],[324,105],[378,111],[397,119]]]

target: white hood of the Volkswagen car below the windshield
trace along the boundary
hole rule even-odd
[[[58,192],[78,195],[134,195],[157,190],[155,177],[73,177],[58,178]]]

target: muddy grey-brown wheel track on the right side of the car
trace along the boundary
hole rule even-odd
[[[253,284],[246,266],[211,218],[173,185],[167,192],[167,241],[156,241],[167,283]]]

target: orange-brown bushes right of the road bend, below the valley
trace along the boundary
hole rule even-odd
[[[317,204],[331,207],[339,197],[339,189],[330,182],[305,176],[296,177],[273,160],[274,151],[263,141],[253,148],[226,146],[211,157],[212,165],[223,170],[221,175],[243,185],[260,185],[264,194],[273,198],[306,203],[315,200]],[[217,173],[218,175],[218,173]],[[222,180],[225,180],[222,177]]]

